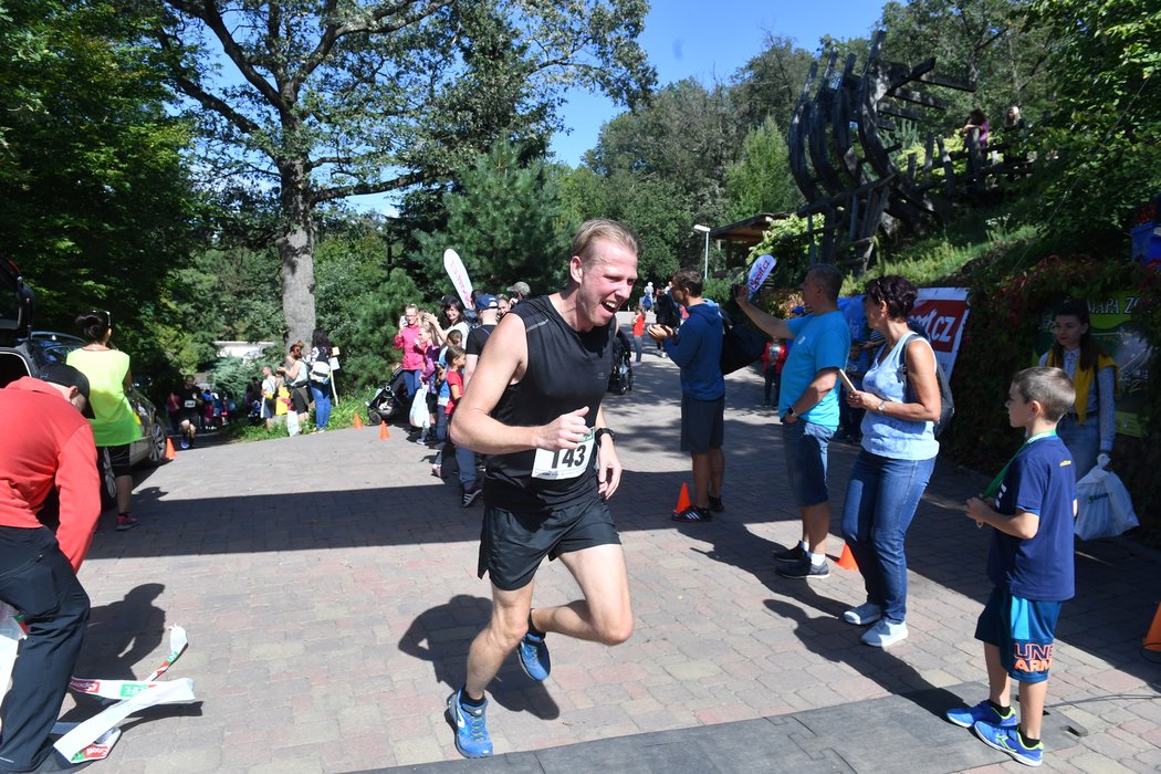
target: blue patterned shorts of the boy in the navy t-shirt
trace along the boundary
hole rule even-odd
[[[975,624],[975,638],[1000,649],[1000,663],[1014,680],[1044,682],[1052,667],[1060,605],[993,588]]]

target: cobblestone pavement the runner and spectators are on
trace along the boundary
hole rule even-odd
[[[546,683],[510,659],[490,694],[497,753],[825,708],[858,716],[878,700],[985,680],[972,635],[989,591],[988,533],[960,507],[985,476],[937,466],[908,536],[910,637],[867,648],[839,620],[863,601],[858,573],[773,572],[770,552],[799,537],[799,521],[756,374],[728,379],[727,511],[711,523],[669,520],[691,482],[677,451],[678,395],[676,367],[647,347],[635,389],[605,404],[627,469],[611,505],[633,638],[605,648],[550,637]],[[832,535],[854,454],[832,446]],[[431,475],[431,456],[399,427],[388,440],[363,428],[200,446],[140,477],[142,527],[106,523],[81,571],[94,609],[78,674],[144,677],[167,653],[165,627],[181,624],[190,646],[170,675],[193,677],[200,701],[131,718],[99,766],[349,772],[457,759],[442,711],[489,613],[488,583],[475,577],[483,508],[461,508],[456,486]],[[841,549],[832,536],[830,554]],[[1050,766],[1158,771],[1159,672],[1139,648],[1161,601],[1161,563],[1127,541],[1082,544],[1076,558],[1079,595],[1063,608],[1048,704],[1086,733],[1050,728]],[[574,594],[558,563],[541,569],[539,603]],[[946,725],[928,709],[932,728]],[[67,715],[93,711],[70,704]],[[892,769],[901,744],[924,753],[910,771],[956,771],[914,736],[881,744],[878,771]],[[988,771],[1018,768],[983,750]]]

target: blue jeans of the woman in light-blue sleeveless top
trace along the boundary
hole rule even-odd
[[[892,460],[859,451],[843,507],[843,540],[863,573],[867,601],[882,617],[907,620],[907,554],[903,538],[936,458]]]

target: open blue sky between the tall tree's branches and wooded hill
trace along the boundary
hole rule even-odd
[[[879,19],[879,0],[655,0],[646,17],[641,46],[663,86],[695,78],[709,86],[726,82],[757,56],[767,34],[793,38],[807,51],[823,35],[868,35]],[[570,135],[557,135],[551,151],[576,166],[597,145],[600,126],[625,111],[603,95],[574,92],[563,109]]]

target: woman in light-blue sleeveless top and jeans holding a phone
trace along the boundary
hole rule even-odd
[[[886,648],[907,637],[907,555],[903,540],[915,518],[939,442],[939,383],[931,345],[907,325],[918,291],[909,280],[867,283],[867,325],[884,337],[863,388],[850,390],[851,408],[864,408],[863,441],[851,469],[843,537],[863,573],[867,599],[846,610],[856,625],[877,623],[863,642]]]

